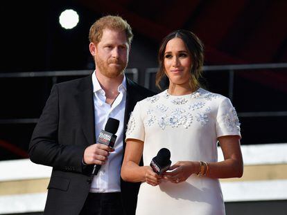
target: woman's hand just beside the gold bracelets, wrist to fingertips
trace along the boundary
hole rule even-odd
[[[173,171],[165,172],[163,175],[164,179],[171,181],[171,183],[181,183],[189,178],[191,174],[198,173],[199,169],[199,162],[178,161],[169,168]]]

